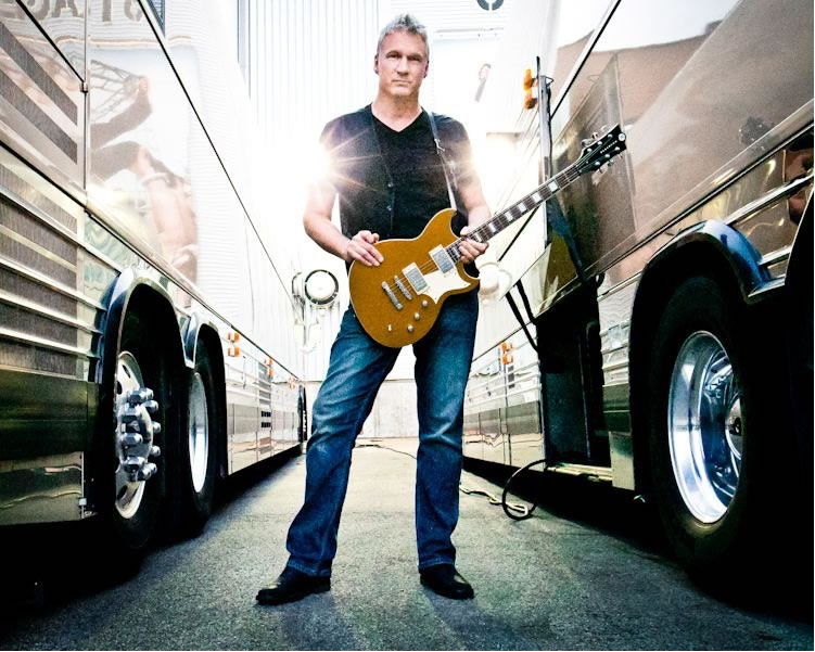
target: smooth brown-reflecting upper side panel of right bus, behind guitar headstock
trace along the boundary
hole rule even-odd
[[[620,3],[552,118],[556,169],[603,122],[628,135],[620,165],[561,197],[589,274],[811,122],[812,14],[799,0]]]

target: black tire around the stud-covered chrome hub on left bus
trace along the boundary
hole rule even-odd
[[[173,410],[170,408],[169,384],[168,384],[168,370],[163,356],[160,351],[156,351],[155,347],[151,345],[153,336],[151,336],[145,322],[136,314],[128,314],[125,317],[124,329],[122,334],[122,342],[118,351],[118,363],[116,375],[113,379],[114,382],[114,432],[110,437],[106,433],[103,434],[105,439],[104,446],[113,446],[113,450],[104,456],[104,459],[110,459],[110,455],[113,456],[113,466],[115,468],[115,476],[111,476],[111,468],[105,463],[103,469],[103,485],[104,496],[101,509],[104,514],[105,530],[112,535],[112,547],[107,550],[113,553],[113,557],[118,557],[123,560],[123,554],[127,555],[127,559],[136,560],[144,551],[151,541],[155,529],[160,508],[166,494],[166,470],[164,460],[158,457],[151,459],[157,466],[157,472],[150,480],[143,481],[143,489],[141,496],[137,500],[129,500],[130,497],[135,498],[138,489],[133,489],[132,485],[128,487],[122,486],[123,470],[120,464],[122,448],[117,438],[119,437],[118,427],[120,426],[120,419],[117,417],[117,404],[122,400],[123,392],[126,392],[127,387],[123,387],[120,370],[123,369],[123,360],[126,360],[126,366],[133,365],[135,360],[140,374],[142,376],[143,387],[148,387],[154,393],[154,400],[158,404],[158,408],[155,413],[151,416],[153,421],[161,424],[161,432],[153,435],[152,444],[158,446],[162,451],[166,449],[165,440],[167,433],[173,432]],[[128,358],[131,356],[131,358]],[[110,444],[107,443],[110,442]],[[109,449],[110,451],[111,449]],[[138,484],[138,483],[137,483]]]

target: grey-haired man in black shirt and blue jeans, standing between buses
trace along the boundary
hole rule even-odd
[[[380,236],[416,238],[453,197],[466,214],[454,225],[463,227],[462,234],[489,217],[463,127],[419,105],[428,65],[425,28],[409,14],[396,17],[382,30],[373,59],[373,103],[330,122],[322,132],[331,171],[309,190],[303,222],[317,244],[348,265],[378,266]],[[338,197],[342,232],[331,221]],[[472,263],[486,244],[464,240],[460,250]],[[419,573],[424,586],[454,599],[473,597],[456,571],[450,536],[458,521],[463,396],[477,308],[475,291],[449,297],[432,330],[413,345]],[[398,353],[374,342],[348,308],[314,404],[306,495],[289,529],[289,562],[272,586],[260,589],[258,602],[281,604],[330,589],[354,442]]]

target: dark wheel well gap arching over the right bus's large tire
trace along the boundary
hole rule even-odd
[[[734,268],[721,250],[704,241],[689,243],[663,257],[644,272],[631,318],[629,389],[632,445],[634,451],[634,478],[638,491],[650,489],[648,473],[648,434],[646,410],[640,398],[646,392],[649,351],[674,291],[691,277],[704,276],[718,283],[725,296],[743,303],[743,296]]]

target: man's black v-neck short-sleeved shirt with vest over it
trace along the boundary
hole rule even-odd
[[[450,117],[434,117],[461,187],[473,175],[467,131]],[[426,113],[394,131],[368,105],[328,123],[320,141],[331,161],[328,181],[339,195],[340,222],[347,238],[361,230],[379,233],[382,240],[416,238],[430,218],[450,207]],[[462,210],[458,194],[456,203]],[[467,223],[463,216],[454,221],[456,232]]]

